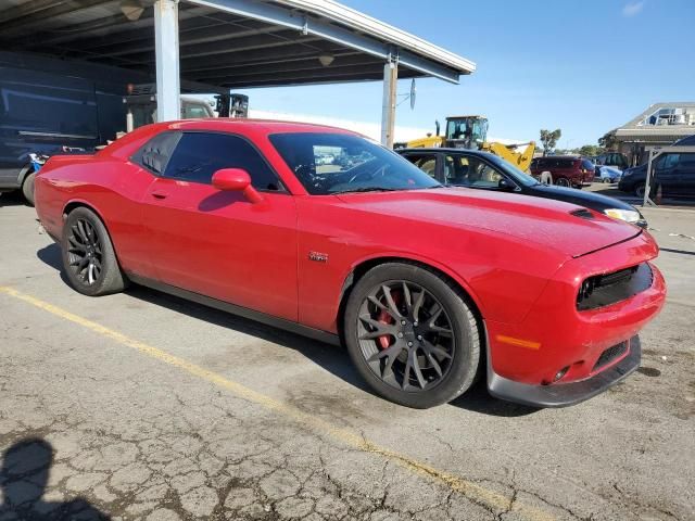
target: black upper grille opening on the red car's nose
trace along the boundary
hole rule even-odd
[[[652,285],[652,268],[647,263],[611,274],[596,275],[582,282],[577,295],[577,309],[585,312],[630,298]]]

